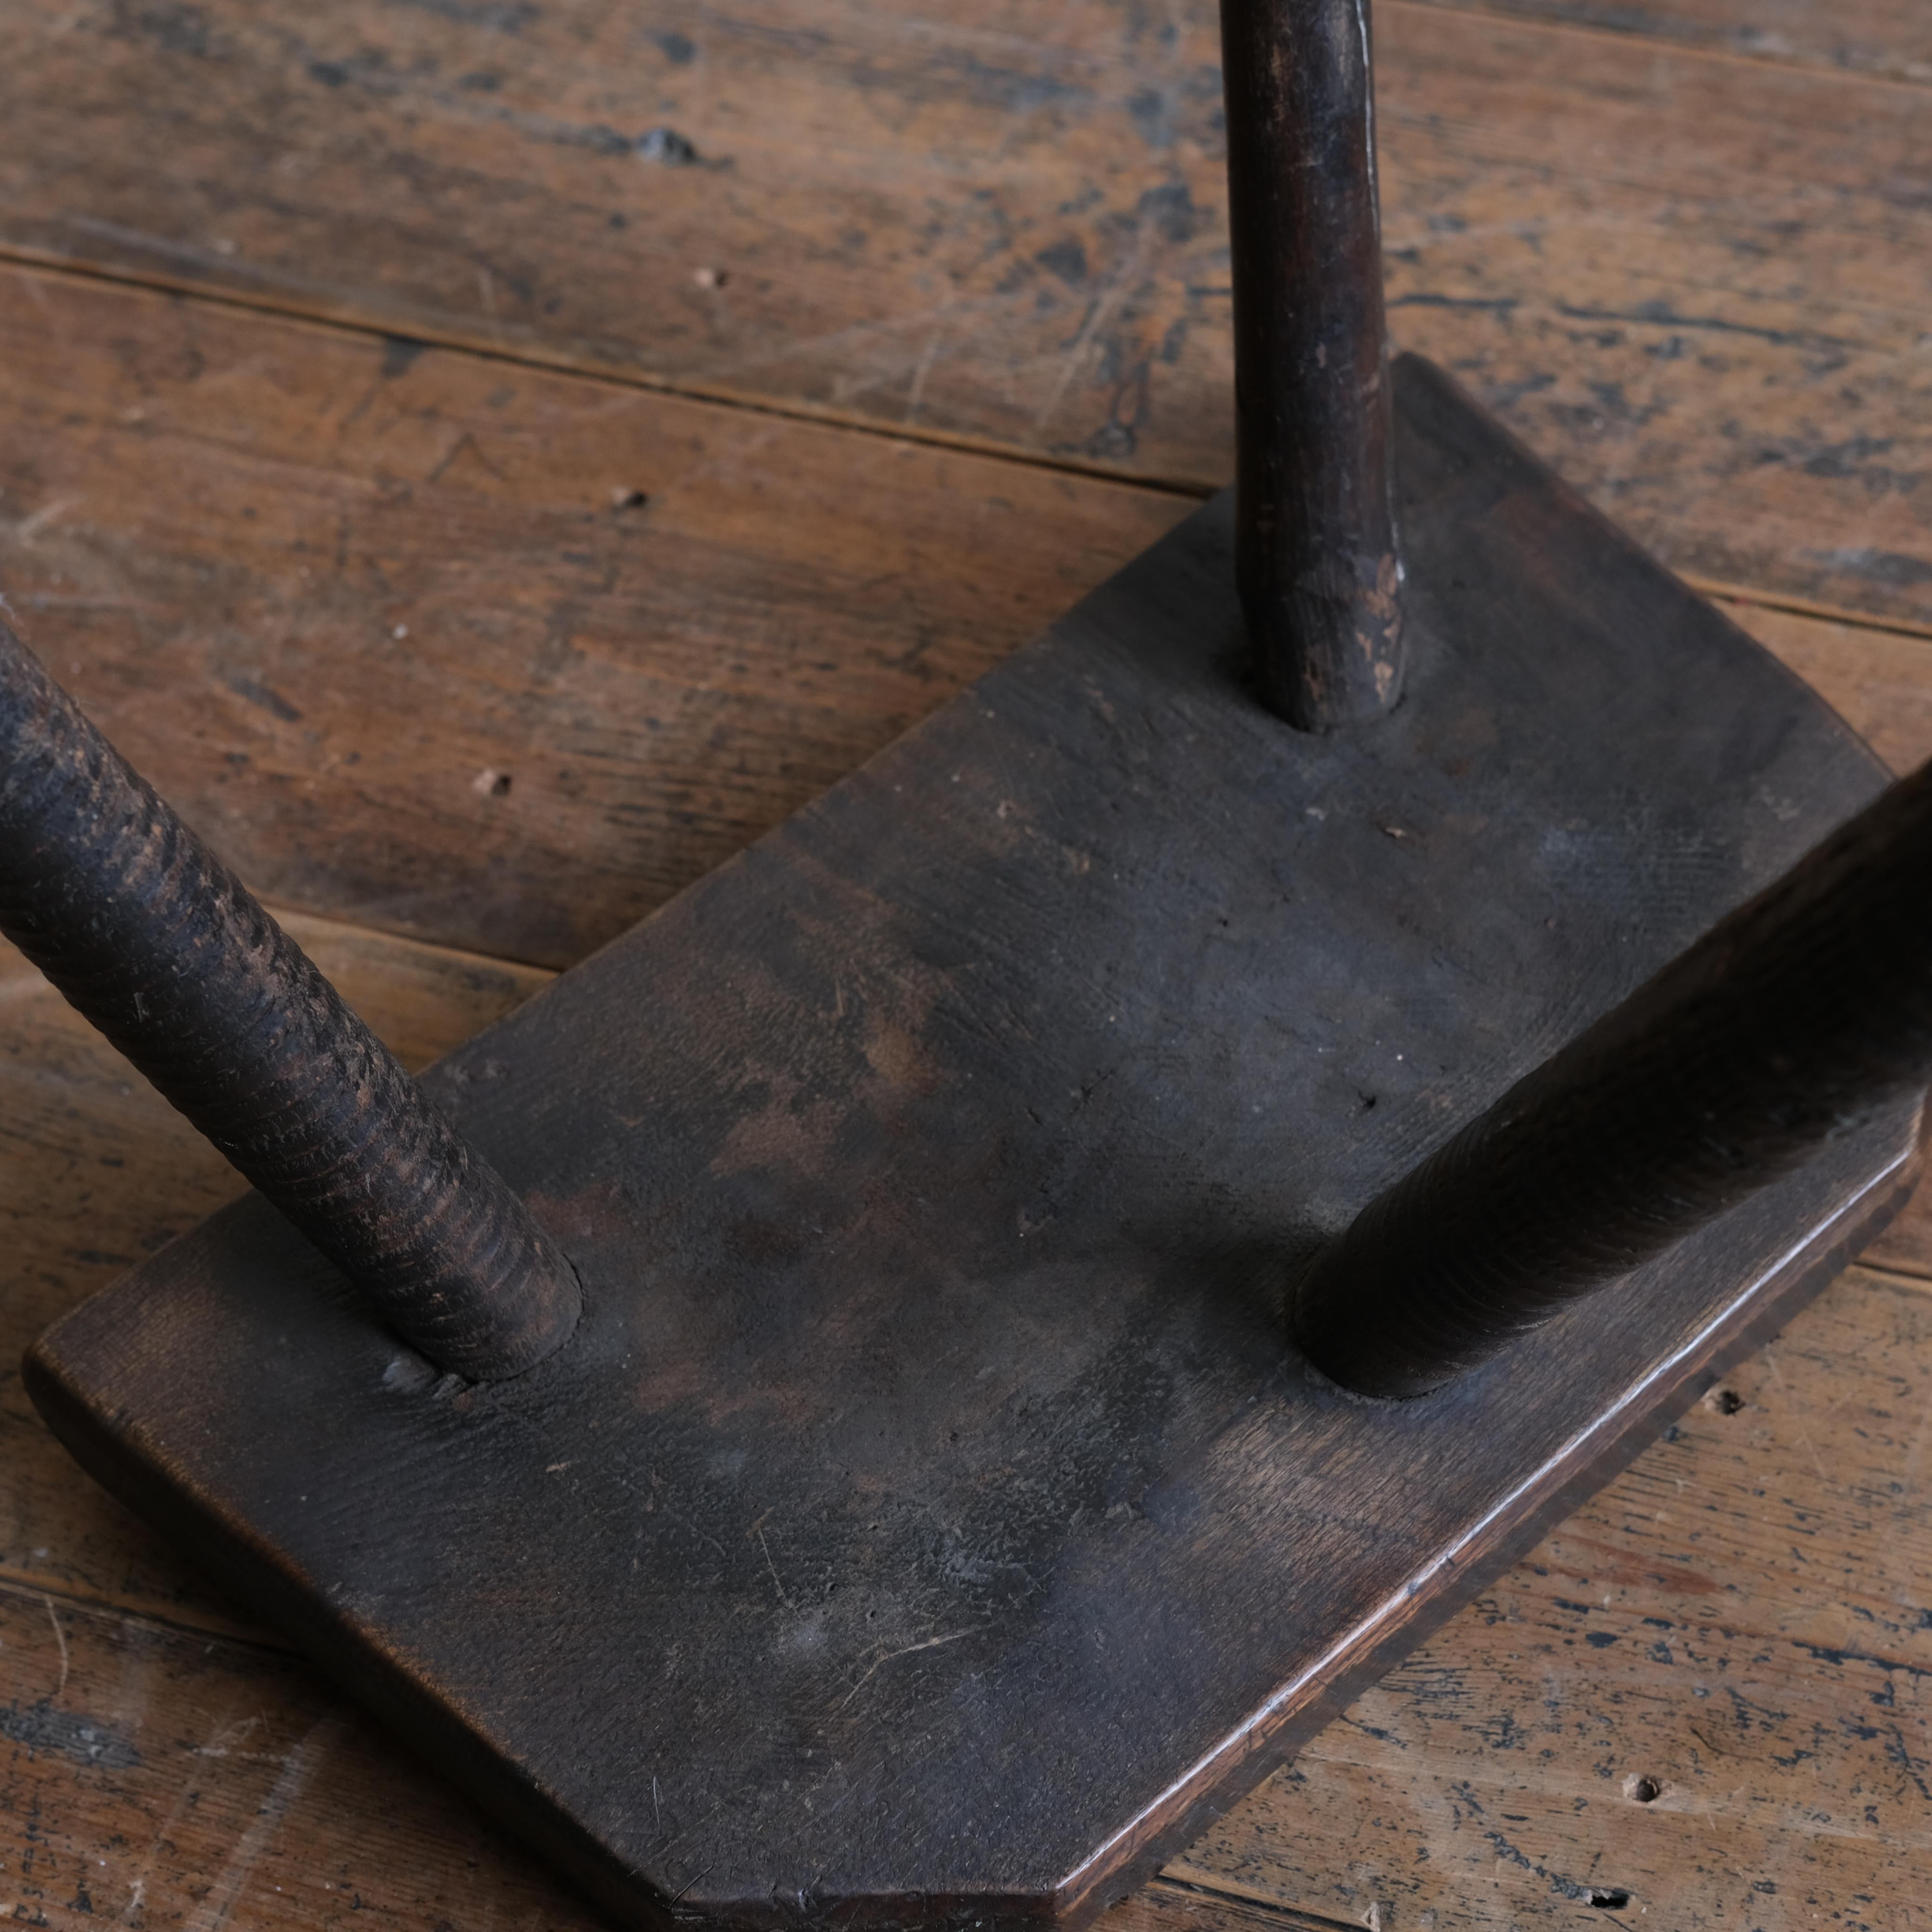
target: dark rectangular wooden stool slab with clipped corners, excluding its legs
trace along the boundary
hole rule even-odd
[[[1074,1920],[1868,1236],[1895,1109],[1435,1397],[1287,1349],[1352,1211],[1884,773],[1426,365],[1414,668],[1246,686],[1229,504],[429,1084],[576,1260],[439,1379],[257,1200],[48,1420],[624,1922]]]

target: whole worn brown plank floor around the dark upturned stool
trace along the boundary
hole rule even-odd
[[[1401,340],[1932,753],[1932,10],[1378,23]],[[0,593],[421,1063],[1225,479],[1213,52],[6,0]],[[234,1182],[12,954],[0,1088],[0,1911],[589,1926],[48,1441],[27,1337]],[[1115,1924],[1932,1924],[1928,1408],[1932,1204]]]

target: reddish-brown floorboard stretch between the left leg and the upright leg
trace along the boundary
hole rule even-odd
[[[549,964],[1190,508],[21,270],[0,423],[17,628],[257,891]]]

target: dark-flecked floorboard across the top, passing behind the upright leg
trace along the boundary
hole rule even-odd
[[[1920,89],[1378,19],[1399,340],[1679,568],[1932,618]],[[1215,60],[1211,0],[23,0],[0,243],[1208,487]]]

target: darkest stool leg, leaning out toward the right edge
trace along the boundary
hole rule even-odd
[[[1932,763],[1374,1200],[1296,1296],[1422,1395],[1932,1082]]]

